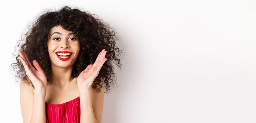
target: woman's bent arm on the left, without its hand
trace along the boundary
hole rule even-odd
[[[35,89],[24,84],[24,79],[20,83],[20,103],[23,123],[45,123],[45,92],[46,89]],[[33,94],[34,93],[34,94]]]

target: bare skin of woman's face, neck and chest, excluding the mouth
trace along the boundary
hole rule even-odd
[[[50,31],[51,37],[47,46],[52,66],[52,79],[47,85],[47,103],[61,104],[79,96],[77,78],[73,78],[71,73],[80,51],[80,44],[74,35],[68,35],[69,33],[72,32],[64,30],[61,26],[55,26]],[[57,51],[69,51],[73,54],[69,60],[62,61],[57,58],[55,54]]]

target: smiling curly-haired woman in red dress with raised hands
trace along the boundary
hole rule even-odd
[[[23,122],[101,123],[103,87],[108,92],[116,82],[111,60],[122,65],[111,27],[64,6],[40,15],[25,36],[12,63],[21,78]]]

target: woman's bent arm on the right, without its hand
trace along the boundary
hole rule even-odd
[[[98,85],[97,88],[99,88]],[[104,90],[102,87],[101,91],[97,93],[96,89],[79,89],[81,106],[80,123],[101,123]]]

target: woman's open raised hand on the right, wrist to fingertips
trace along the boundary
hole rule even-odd
[[[99,54],[94,64],[89,64],[85,70],[83,70],[77,77],[78,89],[89,89],[94,81],[94,79],[99,75],[99,71],[103,64],[106,62],[105,49],[103,49]]]

